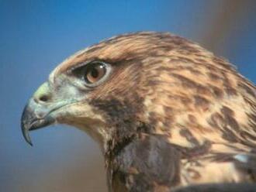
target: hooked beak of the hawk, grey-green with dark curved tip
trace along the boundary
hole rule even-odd
[[[22,112],[21,128],[22,135],[26,142],[32,146],[29,131],[52,125],[54,122],[59,122],[60,118],[63,118],[62,112],[67,114],[67,111],[65,111],[67,108],[64,107],[73,105],[74,103],[77,103],[74,98],[54,98],[53,91],[48,82],[42,84],[35,94],[33,94],[33,97],[30,98]],[[57,118],[59,119],[57,120]]]

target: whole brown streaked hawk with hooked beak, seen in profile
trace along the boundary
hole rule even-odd
[[[129,33],[68,57],[22,113],[91,135],[109,191],[256,191],[256,87],[170,33]],[[206,190],[208,189],[208,190]]]

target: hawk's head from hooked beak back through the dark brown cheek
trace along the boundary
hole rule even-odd
[[[85,130],[103,144],[112,132],[125,135],[127,125],[143,122],[144,97],[157,78],[145,63],[154,63],[157,54],[164,54],[159,49],[164,46],[160,41],[163,36],[169,35],[118,36],[64,60],[22,113],[26,141],[32,145],[30,130],[60,123]],[[113,131],[116,127],[123,130]]]

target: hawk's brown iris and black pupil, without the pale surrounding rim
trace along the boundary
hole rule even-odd
[[[85,81],[87,84],[94,84],[106,74],[104,63],[90,63],[85,70]]]

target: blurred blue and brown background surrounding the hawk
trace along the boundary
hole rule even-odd
[[[101,153],[84,132],[54,126],[22,139],[27,99],[72,53],[120,33],[196,41],[256,82],[256,1],[0,0],[0,191],[106,191]]]

